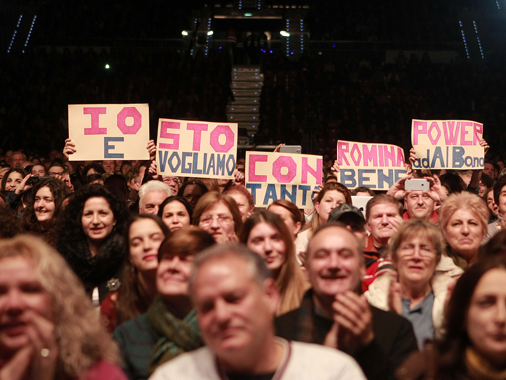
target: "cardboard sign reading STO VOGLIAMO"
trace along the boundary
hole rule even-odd
[[[237,155],[237,123],[160,119],[158,174],[231,179]]]

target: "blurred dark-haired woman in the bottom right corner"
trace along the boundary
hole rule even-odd
[[[397,370],[407,379],[506,378],[506,252],[480,258],[457,281],[441,340]]]

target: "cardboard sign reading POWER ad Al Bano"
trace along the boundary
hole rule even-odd
[[[483,124],[469,120],[415,120],[411,143],[414,169],[483,169]]]

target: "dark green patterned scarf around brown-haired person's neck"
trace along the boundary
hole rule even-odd
[[[180,320],[157,295],[147,311],[147,320],[149,332],[156,339],[148,367],[150,373],[175,356],[202,347],[195,310]]]

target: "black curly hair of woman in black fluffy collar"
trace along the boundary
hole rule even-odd
[[[93,197],[102,197],[107,203],[114,214],[116,224],[114,224],[111,234],[123,235],[126,221],[128,220],[128,210],[126,209],[125,202],[118,199],[109,189],[104,185],[94,183],[81,187],[75,196],[70,200],[65,211],[62,214],[61,222],[58,226],[58,242],[61,241],[81,241],[87,240],[85,232],[82,230],[81,216],[82,210],[88,199]]]

